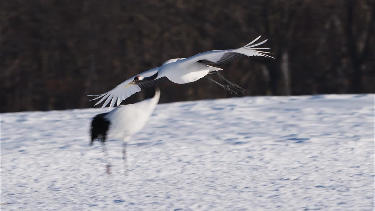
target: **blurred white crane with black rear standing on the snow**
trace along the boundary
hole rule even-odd
[[[159,102],[160,89],[159,85],[153,86],[153,96],[134,104],[121,105],[107,113],[96,115],[91,122],[91,142],[93,145],[95,140],[102,143],[105,160],[107,162],[107,173],[110,173],[111,164],[107,157],[107,149],[105,141],[107,136],[119,137],[123,140],[123,160],[124,167],[126,159],[126,144],[130,141],[133,134],[142,130],[147,123],[151,114],[154,112],[156,104]],[[127,172],[125,170],[125,172]]]

